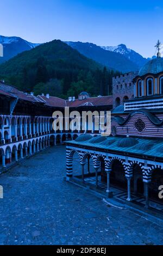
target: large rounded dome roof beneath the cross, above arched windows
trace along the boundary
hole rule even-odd
[[[163,72],[163,58],[155,58],[149,60],[142,68],[139,70],[139,76],[143,76],[146,74],[158,74],[159,72]]]

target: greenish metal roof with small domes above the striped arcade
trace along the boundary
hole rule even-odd
[[[80,137],[80,136],[79,136]],[[100,136],[98,136],[100,137]],[[102,136],[103,137],[103,136]],[[97,138],[97,137],[96,137]],[[92,147],[93,150],[97,148],[99,149],[106,149],[112,151],[121,151],[125,153],[131,153],[131,154],[139,154],[139,155],[145,155],[145,156],[153,156],[153,157],[163,157],[163,141],[159,139],[145,139],[145,138],[136,138],[135,140],[137,143],[131,147],[128,147],[124,143],[124,147],[118,146],[118,143],[122,141],[122,139],[125,139],[124,137],[105,137],[106,139],[103,142],[95,143],[91,142],[91,139],[84,142],[79,141],[68,141],[68,144],[73,145],[74,147],[78,145],[79,147]]]

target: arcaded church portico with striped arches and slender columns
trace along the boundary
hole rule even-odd
[[[105,195],[109,197],[112,196],[112,187],[115,187],[126,192],[126,200],[128,202],[134,201],[135,198],[145,199],[146,208],[148,208],[149,200],[159,204],[162,203],[158,194],[159,184],[161,185],[163,162],[156,160],[156,156],[148,156],[147,152],[144,152],[144,155],[138,154],[138,152],[135,154],[134,148],[136,145],[124,147],[123,150],[119,147],[118,150],[115,150],[117,145],[120,145],[120,142],[125,138],[114,138],[115,142],[109,145],[109,141],[111,142],[113,138],[108,137],[106,139],[108,142],[106,147],[106,141],[104,145],[103,143],[93,145],[91,139],[86,138],[86,141],[84,141],[85,135],[80,135],[80,137],[82,136],[82,142],[71,141],[66,143],[67,180],[80,178],[85,184],[89,183],[90,180],[91,185],[94,184],[96,188],[102,188],[104,191],[105,187]],[[143,141],[148,143],[146,139],[143,139]],[[140,142],[142,143],[142,139],[140,139]],[[140,142],[137,139],[137,143]],[[81,165],[81,172],[76,176],[73,176],[74,153],[78,155]],[[87,156],[92,159],[94,172],[89,173],[85,168]],[[156,175],[158,167],[159,172],[157,171],[158,175]],[[158,181],[157,188],[155,180]],[[152,184],[155,184],[155,187]]]

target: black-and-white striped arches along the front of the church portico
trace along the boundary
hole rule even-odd
[[[66,146],[66,175],[71,177],[73,174],[73,154],[77,153],[79,156],[80,164],[85,164],[87,156],[89,155],[93,160],[93,167],[98,169],[100,167],[101,159],[105,162],[105,172],[112,171],[112,164],[115,160],[122,163],[126,178],[131,178],[133,176],[133,170],[135,164],[138,164],[142,170],[143,182],[151,182],[152,174],[155,169],[160,168],[163,171],[163,163],[142,160],[135,157],[124,157],[124,155],[114,155],[112,153],[105,153],[100,151],[95,151],[91,149],[84,149],[82,146],[80,148],[73,147],[72,145]]]

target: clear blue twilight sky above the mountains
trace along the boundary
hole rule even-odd
[[[163,42],[162,17],[163,0],[5,0],[0,34],[31,42],[123,43],[151,57],[156,41]]]

